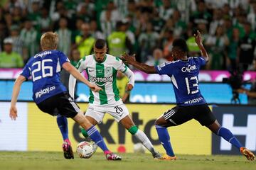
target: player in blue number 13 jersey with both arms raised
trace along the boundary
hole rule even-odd
[[[252,161],[255,159],[255,155],[249,149],[243,147],[230,130],[220,126],[218,120],[210,111],[206,100],[201,95],[198,86],[199,69],[208,62],[209,57],[203,47],[201,33],[197,31],[197,35],[194,35],[194,37],[201,50],[202,57],[187,57],[188,46],[186,41],[181,38],[177,38],[173,42],[171,53],[174,57],[174,62],[165,62],[159,66],[151,67],[135,61],[135,58],[132,56],[122,55],[124,62],[132,64],[143,72],[148,74],[166,74],[171,77],[177,106],[166,111],[155,122],[159,140],[166,150],[166,154],[161,159],[176,159],[166,128],[181,125],[188,120],[195,119],[201,125],[210,129],[215,135],[223,137],[233,146],[237,147],[241,154]]]

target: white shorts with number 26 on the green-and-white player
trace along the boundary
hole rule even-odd
[[[101,123],[105,113],[112,115],[114,120],[117,122],[129,115],[129,111],[124,103],[117,106],[95,106],[93,104],[89,104],[85,115],[94,118],[97,123]]]

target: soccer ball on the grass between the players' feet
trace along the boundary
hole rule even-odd
[[[80,158],[85,158],[88,159],[92,157],[92,154],[96,152],[97,145],[95,142],[90,143],[90,142],[80,142],[77,147],[77,153]]]

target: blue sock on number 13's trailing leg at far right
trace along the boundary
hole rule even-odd
[[[238,141],[238,139],[233,135],[232,132],[230,132],[230,130],[228,130],[227,128],[223,128],[221,127],[218,130],[217,133],[218,136],[223,137],[224,140],[230,142],[230,144],[234,145],[235,147],[237,147],[238,149],[240,149],[240,147],[242,147],[242,144]]]

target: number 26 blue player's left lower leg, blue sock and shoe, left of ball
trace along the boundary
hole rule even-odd
[[[63,152],[65,159],[74,159],[71,142],[68,138],[68,119],[63,115],[57,115],[57,124],[63,136]]]

